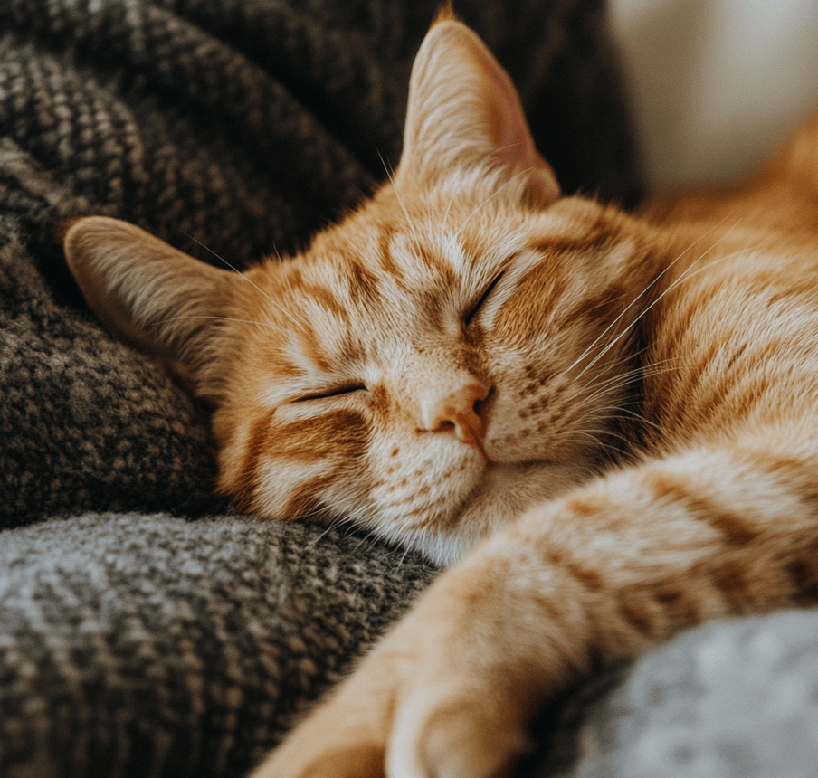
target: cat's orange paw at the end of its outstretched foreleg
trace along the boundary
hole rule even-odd
[[[518,614],[485,612],[485,583],[452,572],[252,778],[512,773],[547,684],[515,650]]]

